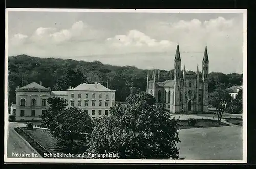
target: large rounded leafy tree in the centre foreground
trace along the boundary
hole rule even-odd
[[[88,152],[125,159],[179,159],[177,121],[153,100],[145,92],[131,95],[124,107],[116,105],[111,116],[95,120]]]

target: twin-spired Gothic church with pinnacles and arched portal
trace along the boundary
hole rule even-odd
[[[185,66],[181,70],[179,44],[174,59],[174,77],[164,79],[160,71],[153,71],[152,78],[147,74],[146,92],[156,99],[157,105],[163,105],[172,113],[192,113],[208,111],[208,72],[209,60],[205,47],[202,62],[202,77],[197,72],[186,72]]]

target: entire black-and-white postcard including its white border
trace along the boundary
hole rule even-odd
[[[6,9],[5,162],[246,163],[246,9]]]

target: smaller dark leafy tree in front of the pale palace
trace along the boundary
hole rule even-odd
[[[88,140],[93,123],[88,113],[77,107],[66,108],[67,100],[48,98],[49,108],[41,116],[42,126],[49,129],[65,152],[83,153],[88,148]]]

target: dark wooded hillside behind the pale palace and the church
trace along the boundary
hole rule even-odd
[[[116,100],[124,102],[130,94],[130,87],[139,91],[146,90],[148,70],[133,66],[113,66],[99,61],[86,62],[71,59],[38,58],[27,55],[8,57],[8,104],[16,103],[15,89],[31,82],[37,82],[52,90],[65,91],[69,86],[76,87],[80,83],[98,82],[116,90]],[[160,70],[161,76],[169,76],[169,72]],[[173,70],[171,70],[173,73]],[[171,74],[172,75],[172,74]],[[209,93],[216,88],[229,88],[242,85],[242,74],[209,74]]]

